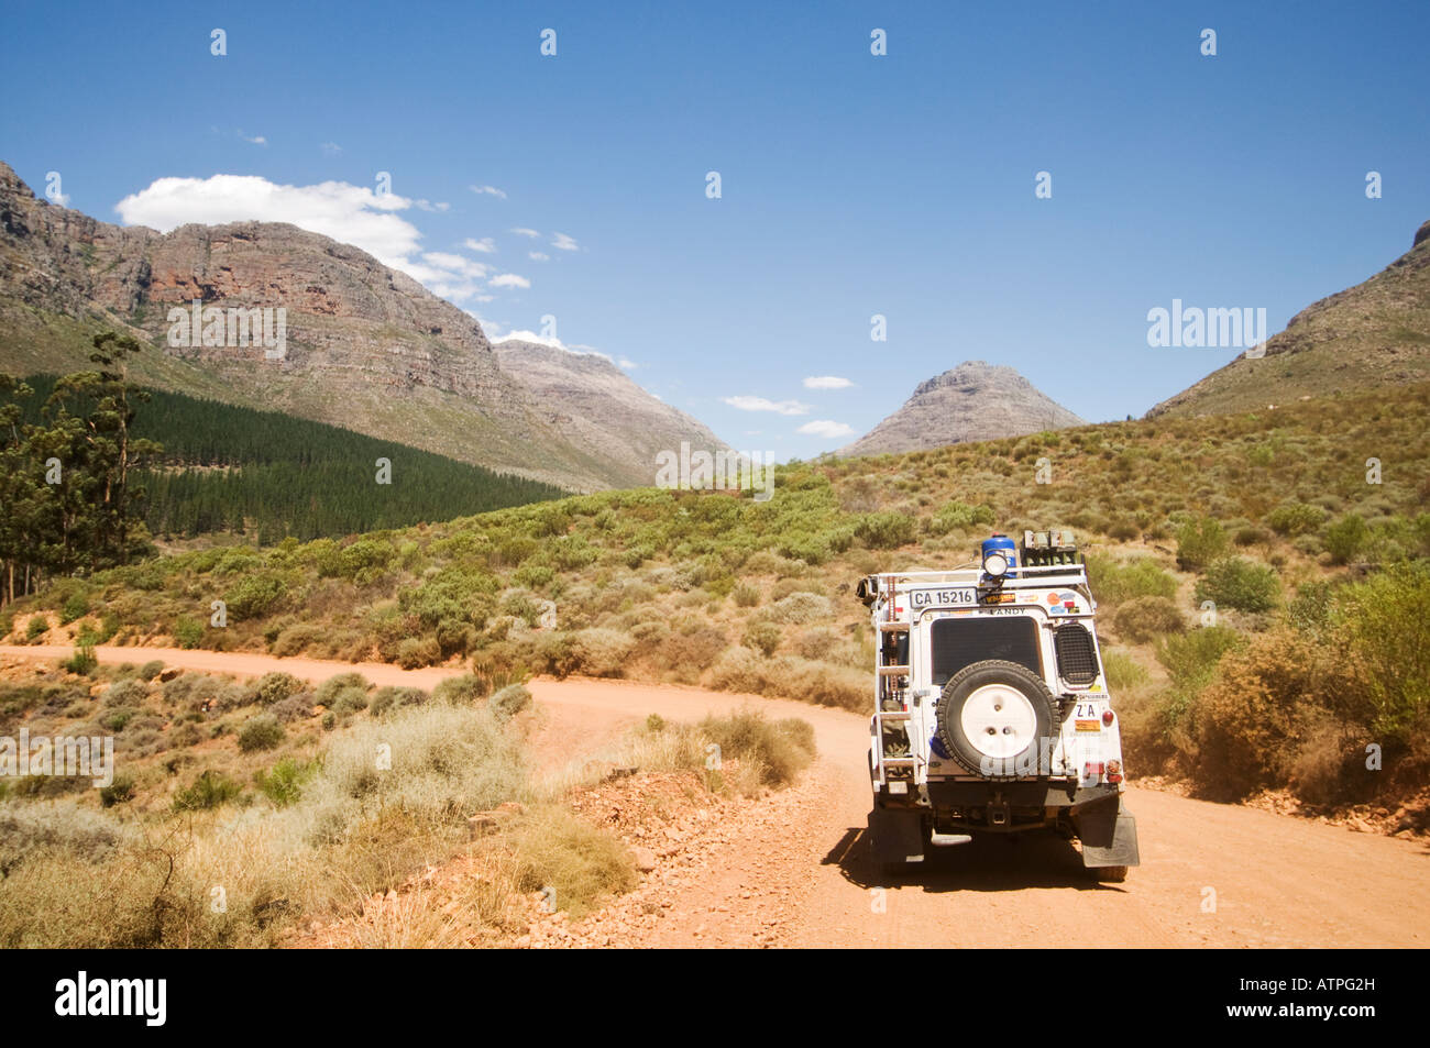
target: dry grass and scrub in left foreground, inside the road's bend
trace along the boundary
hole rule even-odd
[[[342,673],[315,689],[286,673],[160,682],[162,669],[0,683],[0,732],[112,733],[117,765],[103,789],[0,781],[0,946],[275,945],[453,861],[473,874],[462,899],[472,938],[423,925],[386,945],[495,944],[526,929],[523,892],[549,889],[579,916],[636,884],[628,848],[572,809],[601,765],[532,772],[519,683],[460,676],[428,693]],[[263,745],[245,745],[253,725]],[[706,766],[712,742],[719,769]],[[652,716],[616,746],[623,763],[682,773],[699,796],[782,785],[812,752],[809,725],[758,713]]]

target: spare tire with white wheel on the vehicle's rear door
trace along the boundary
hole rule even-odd
[[[1048,775],[1042,739],[1055,738],[1058,703],[1027,666],[985,659],[958,671],[938,699],[938,739],[974,775]]]

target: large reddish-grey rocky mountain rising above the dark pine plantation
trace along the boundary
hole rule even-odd
[[[286,353],[202,339],[170,346],[170,309],[194,299],[225,310],[283,307]],[[134,375],[167,389],[582,490],[651,482],[652,469],[638,470],[632,446],[608,425],[639,399],[628,379],[592,373],[596,387],[581,390],[583,372],[572,370],[558,422],[502,369],[476,320],[356,247],[283,223],[163,234],[113,226],[37,200],[0,163],[0,369],[79,366],[102,327],[152,346]]]

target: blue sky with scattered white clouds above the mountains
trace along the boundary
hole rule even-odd
[[[1424,3],[30,4],[6,21],[0,159],[36,192],[59,172],[70,207],[110,222],[126,197],[146,224],[322,214],[489,333],[555,316],[565,345],[781,458],[847,443],[965,359],[1090,420],[1141,415],[1234,355],[1148,347],[1148,309],[1263,306],[1276,332],[1430,217]],[[736,406],[761,402],[784,413]]]

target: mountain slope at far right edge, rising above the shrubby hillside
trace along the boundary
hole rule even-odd
[[[1147,412],[1226,415],[1430,379],[1430,222],[1369,280],[1321,299],[1266,342]]]

